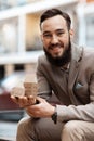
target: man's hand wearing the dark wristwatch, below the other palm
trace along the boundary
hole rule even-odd
[[[48,103],[44,99],[37,97],[38,104],[26,107],[28,115],[32,117],[51,117],[55,107]]]

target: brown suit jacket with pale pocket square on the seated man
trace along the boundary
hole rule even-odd
[[[62,67],[51,65],[45,55],[39,57],[39,94],[48,99],[54,91],[64,104],[56,105],[59,121],[94,121],[94,49],[72,43],[71,55],[68,74]]]

